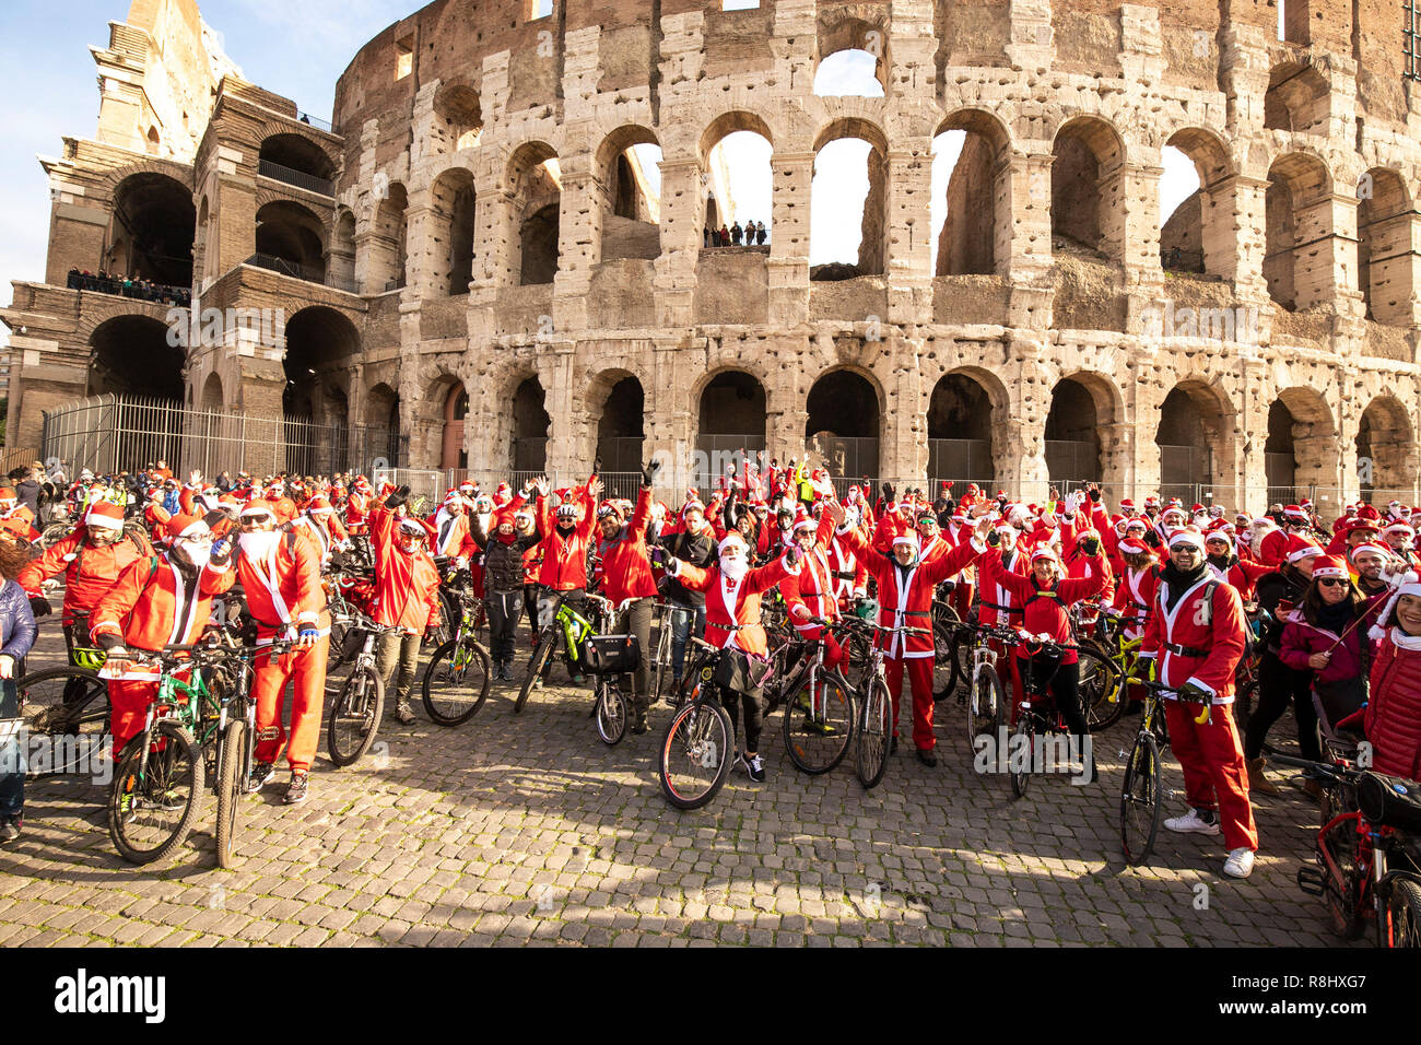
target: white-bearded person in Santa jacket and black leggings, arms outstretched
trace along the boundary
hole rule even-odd
[[[716,547],[716,563],[709,569],[692,566],[679,559],[666,559],[666,573],[693,591],[706,593],[706,641],[712,645],[737,648],[742,653],[766,658],[769,643],[760,626],[760,596],[786,577],[799,572],[799,547],[790,546],[784,553],[764,566],[750,569],[750,546],[737,532],[728,533]],[[756,783],[764,781],[764,761],[760,758],[760,728],[763,708],[759,692],[725,692],[730,725],[745,712],[745,751],[737,765]]]

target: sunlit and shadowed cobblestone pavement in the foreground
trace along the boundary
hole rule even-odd
[[[54,633],[43,626],[30,670],[58,658]],[[1133,725],[1097,742],[1098,783],[1036,778],[1013,802],[1005,778],[972,772],[952,702],[939,766],[904,744],[868,793],[851,756],[799,775],[776,714],[769,781],[732,773],[709,808],[678,813],[651,761],[665,705],[652,732],[607,748],[587,691],[553,685],[514,717],[516,692],[496,684],[456,729],[416,702],[419,721],[387,717],[350,769],[323,749],[306,805],[281,806],[281,786],[246,799],[244,859],[227,872],[215,869],[210,795],[172,860],[132,867],[109,842],[101,788],[31,782],[24,835],[0,850],[0,944],[1340,943],[1295,883],[1317,813],[1293,788],[1258,803],[1262,852],[1245,881],[1222,874],[1221,839],[1164,830],[1150,866],[1124,866]],[[1167,782],[1182,793],[1177,768]]]

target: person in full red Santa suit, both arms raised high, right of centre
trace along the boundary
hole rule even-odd
[[[838,539],[858,556],[864,567],[878,583],[880,627],[917,627],[926,634],[880,631],[874,644],[885,651],[884,670],[888,675],[888,692],[892,697],[892,727],[897,749],[898,711],[902,698],[902,675],[908,671],[912,687],[912,742],[918,761],[926,766],[938,765],[934,754],[936,738],[932,734],[932,596],[939,582],[961,572],[963,566],[976,562],[986,550],[982,537],[992,527],[988,518],[978,522],[978,530],[968,543],[949,549],[932,562],[919,557],[919,539],[912,533],[894,537],[890,553],[874,550],[855,530],[843,526],[844,508],[837,498],[830,498],[827,509],[838,523]]]

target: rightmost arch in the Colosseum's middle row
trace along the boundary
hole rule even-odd
[[[1357,286],[1367,318],[1412,326],[1417,209],[1411,191],[1398,172],[1373,168],[1361,176],[1357,196]]]

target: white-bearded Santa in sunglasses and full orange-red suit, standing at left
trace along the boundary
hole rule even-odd
[[[239,526],[236,550],[229,540],[216,542],[212,564],[219,570],[230,569],[234,554],[234,573],[257,624],[257,645],[276,640],[296,643],[286,654],[259,654],[254,663],[252,697],[257,705],[257,745],[249,786],[252,792],[260,791],[286,751],[291,781],[284,802],[294,805],[306,800],[310,788],[331,647],[331,616],[321,587],[321,547],[307,536],[306,527],[279,526],[276,509],[266,500],[247,502]],[[281,725],[288,682],[290,734]]]

